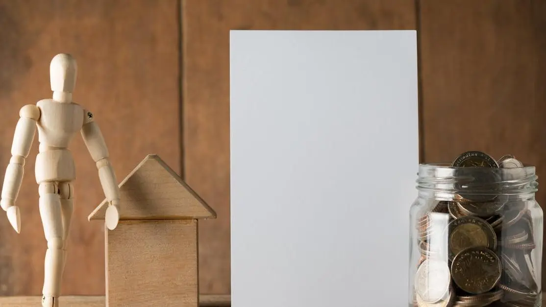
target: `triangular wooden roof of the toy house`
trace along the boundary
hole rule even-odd
[[[147,155],[120,183],[120,220],[206,219],[216,213],[158,155]],[[108,201],[88,216],[104,220]]]

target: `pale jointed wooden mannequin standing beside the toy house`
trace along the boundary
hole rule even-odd
[[[108,157],[102,133],[93,114],[72,102],[76,84],[76,61],[68,54],[56,55],[50,65],[53,99],[23,106],[15,128],[11,159],[5,171],[0,206],[17,233],[21,230],[19,208],[15,205],[23,178],[23,167],[38,128],[39,153],[35,176],[39,184],[40,216],[48,249],[45,254],[42,305],[58,306],[61,279],[67,256],[67,238],[72,219],[75,167],[67,149],[81,131],[85,145],[97,164],[100,183],[109,201],[106,226],[113,230],[119,220],[120,191]]]

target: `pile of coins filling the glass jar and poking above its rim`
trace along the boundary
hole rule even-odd
[[[453,167],[521,168],[512,155],[499,160],[466,152]],[[522,168],[523,169],[523,168]],[[420,259],[414,276],[414,306],[541,306],[531,251],[533,225],[524,201],[491,195],[459,195],[429,200],[417,221]],[[430,209],[432,208],[432,209]],[[434,218],[443,217],[443,227]],[[440,248],[432,246],[435,243]]]

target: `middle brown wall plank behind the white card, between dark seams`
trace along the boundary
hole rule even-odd
[[[413,0],[182,0],[183,178],[218,214],[200,222],[201,293],[230,293],[230,29],[416,29],[416,11]]]

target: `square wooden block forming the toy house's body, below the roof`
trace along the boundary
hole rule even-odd
[[[197,220],[120,221],[106,237],[109,307],[197,307]]]

